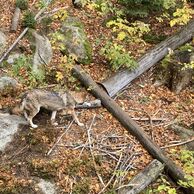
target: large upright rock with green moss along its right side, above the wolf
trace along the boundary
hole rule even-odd
[[[89,64],[92,59],[92,48],[84,32],[82,23],[74,17],[68,17],[62,27],[61,33],[64,36],[63,53],[75,55],[77,62]]]

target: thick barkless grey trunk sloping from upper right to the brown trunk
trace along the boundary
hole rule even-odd
[[[168,53],[168,49],[176,49],[180,45],[189,41],[194,33],[194,20],[187,26],[180,30],[175,35],[162,41],[156,45],[152,50],[143,55],[137,62],[139,67],[134,71],[127,69],[119,71],[112,75],[110,78],[100,83],[107,91],[109,96],[113,97],[117,92],[127,86],[132,80],[148,70],[158,61],[160,61]]]

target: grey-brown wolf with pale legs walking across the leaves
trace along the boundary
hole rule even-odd
[[[12,113],[23,112],[31,127],[37,128],[38,125],[33,123],[33,118],[38,114],[40,108],[43,107],[52,111],[50,119],[52,125],[58,125],[58,123],[55,122],[56,114],[57,111],[62,111],[62,113],[68,112],[71,114],[79,126],[84,126],[84,124],[77,118],[75,105],[76,100],[68,91],[57,93],[53,91],[34,89],[23,95],[20,106],[15,107]]]

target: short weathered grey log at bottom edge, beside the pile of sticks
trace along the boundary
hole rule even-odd
[[[118,194],[137,194],[143,191],[150,183],[158,178],[164,170],[164,164],[158,160],[153,160],[143,171],[134,176],[126,187],[118,190]]]

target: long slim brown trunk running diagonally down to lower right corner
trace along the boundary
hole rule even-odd
[[[72,73],[77,77],[82,84],[98,99],[101,100],[102,105],[116,118],[118,121],[135,136],[144,148],[162,163],[165,163],[165,170],[176,181],[186,181],[183,171],[167,156],[155,143],[143,132],[142,128],[134,122],[126,112],[122,110],[117,103],[111,99],[107,93],[96,84],[92,78],[84,72],[84,70],[78,65],[74,66]],[[190,188],[186,189],[188,193],[191,193]],[[194,192],[194,190],[193,190]]]

